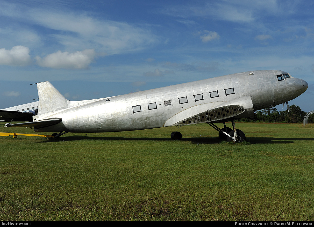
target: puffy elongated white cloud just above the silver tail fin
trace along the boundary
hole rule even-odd
[[[37,63],[42,67],[54,69],[86,69],[96,56],[95,50],[86,49],[75,53],[61,52],[47,55],[44,58],[36,56]]]

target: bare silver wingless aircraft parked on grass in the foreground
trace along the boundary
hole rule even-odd
[[[288,102],[308,84],[281,70],[230,74],[107,98],[69,101],[48,81],[37,83],[38,111],[33,121],[5,127],[33,127],[35,132],[113,132],[207,123],[227,141],[245,140],[234,119]],[[232,129],[225,122],[231,121]],[[223,122],[219,129],[214,123]],[[180,132],[171,133],[181,139]]]

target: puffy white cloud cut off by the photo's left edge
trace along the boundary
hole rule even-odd
[[[30,64],[30,49],[24,46],[15,46],[11,50],[0,49],[0,64],[25,66]]]

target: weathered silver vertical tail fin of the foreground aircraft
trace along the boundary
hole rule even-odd
[[[37,83],[38,115],[68,108],[68,100],[48,81]]]

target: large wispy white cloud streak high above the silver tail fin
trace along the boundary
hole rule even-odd
[[[73,49],[97,48],[111,55],[141,50],[157,42],[157,36],[150,30],[125,22],[101,20],[86,14],[68,12],[32,10],[28,13],[35,23],[63,31],[51,35],[60,44]]]

